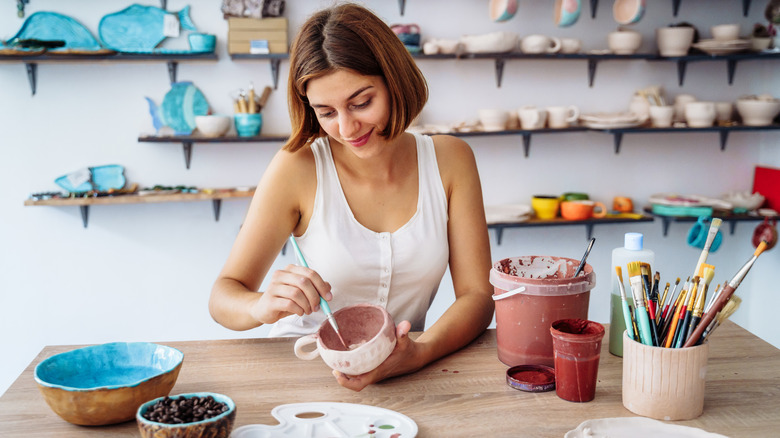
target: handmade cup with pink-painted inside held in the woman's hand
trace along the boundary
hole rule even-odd
[[[356,304],[333,313],[341,337],[326,320],[316,333],[295,341],[295,355],[312,360],[321,356],[336,371],[348,375],[367,373],[384,362],[395,348],[395,322],[387,311],[373,304]],[[317,344],[312,351],[304,351],[309,344]]]

